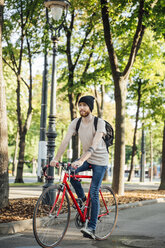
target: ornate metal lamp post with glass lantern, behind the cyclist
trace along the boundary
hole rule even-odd
[[[51,98],[50,98],[50,113],[49,113],[49,124],[47,131],[47,160],[48,163],[54,157],[55,149],[55,138],[57,136],[55,128],[56,118],[56,57],[57,57],[57,43],[60,36],[60,30],[65,21],[68,7],[70,3],[67,0],[51,1],[47,0],[44,2],[46,11],[47,24],[51,30],[51,39],[53,42],[53,56],[52,56],[52,78],[51,78]],[[48,176],[54,176],[54,167],[48,169]],[[44,185],[44,188],[49,187],[53,183],[53,179],[49,179]]]

